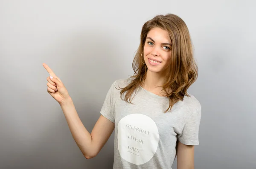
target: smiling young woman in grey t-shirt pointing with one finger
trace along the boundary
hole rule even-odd
[[[74,140],[95,157],[115,129],[114,169],[194,168],[201,105],[187,93],[198,68],[186,24],[174,14],[147,21],[134,57],[134,76],[116,80],[91,133],[82,124],[67,89],[52,70],[47,91],[58,101]]]

